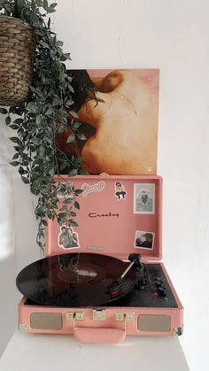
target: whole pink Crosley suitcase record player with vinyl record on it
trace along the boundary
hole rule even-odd
[[[45,259],[17,278],[19,328],[119,343],[182,334],[183,308],[164,265],[159,176],[62,176],[60,201],[82,189],[79,227],[50,221]],[[27,269],[27,270],[26,270]],[[32,287],[32,289],[31,289]]]

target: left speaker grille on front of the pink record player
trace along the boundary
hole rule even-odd
[[[61,313],[31,313],[30,327],[36,329],[61,329]]]

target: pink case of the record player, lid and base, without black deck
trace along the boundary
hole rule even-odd
[[[149,267],[159,264],[175,305],[73,308],[35,305],[23,298],[19,303],[19,328],[33,333],[72,334],[79,341],[89,343],[119,343],[127,335],[181,335],[182,304],[164,265],[158,262],[162,252],[162,179],[159,176],[90,175],[63,176],[61,182],[83,189],[78,197],[81,209],[75,218],[79,227],[73,228],[76,246],[66,245],[62,228],[57,221],[49,220],[45,255],[93,252],[127,260],[130,253],[139,253]],[[65,197],[70,197],[67,190],[66,194],[60,194],[60,201]],[[141,242],[144,236],[151,236],[149,246]]]

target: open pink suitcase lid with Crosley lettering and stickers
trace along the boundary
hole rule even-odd
[[[55,177],[58,180],[58,177]],[[91,252],[128,259],[140,253],[143,261],[161,259],[162,178],[147,175],[61,176],[64,185],[83,189],[80,210],[71,230],[48,220],[45,255]],[[66,197],[69,197],[66,190]],[[60,201],[65,199],[59,194]],[[73,234],[69,239],[69,234]],[[73,243],[72,243],[73,242]]]

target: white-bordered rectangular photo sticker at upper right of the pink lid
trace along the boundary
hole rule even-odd
[[[134,213],[136,214],[155,213],[155,184],[153,183],[134,184]]]

